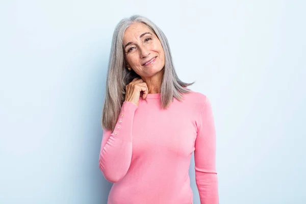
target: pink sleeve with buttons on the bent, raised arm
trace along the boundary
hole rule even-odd
[[[103,130],[99,168],[106,180],[120,181],[132,159],[132,126],[137,105],[124,101],[114,131]]]

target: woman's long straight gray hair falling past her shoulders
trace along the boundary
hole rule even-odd
[[[111,53],[108,64],[108,73],[106,80],[106,93],[103,104],[103,113],[101,115],[101,126],[106,130],[114,130],[118,120],[121,106],[125,100],[125,86],[132,82],[135,77],[140,76],[132,69],[126,69],[123,49],[123,35],[129,26],[135,22],[144,23],[154,32],[164,48],[165,66],[163,68],[163,80],[161,85],[161,107],[167,109],[172,103],[173,97],[177,100],[184,98],[183,94],[190,93],[187,86],[194,84],[182,82],[175,72],[170,47],[165,34],[148,18],[133,15],[130,18],[122,19],[116,26],[111,46]]]

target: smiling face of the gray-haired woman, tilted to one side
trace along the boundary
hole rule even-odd
[[[125,30],[123,49],[129,67],[143,78],[152,77],[165,66],[160,40],[143,23],[134,23]]]

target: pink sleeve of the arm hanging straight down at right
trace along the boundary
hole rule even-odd
[[[218,204],[216,133],[210,100],[201,111],[194,151],[195,179],[201,204]]]

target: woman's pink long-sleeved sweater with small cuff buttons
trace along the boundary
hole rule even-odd
[[[108,204],[192,204],[194,151],[201,204],[218,204],[216,135],[209,99],[185,94],[161,109],[160,93],[124,101],[114,131],[104,130],[99,168],[114,183]]]

